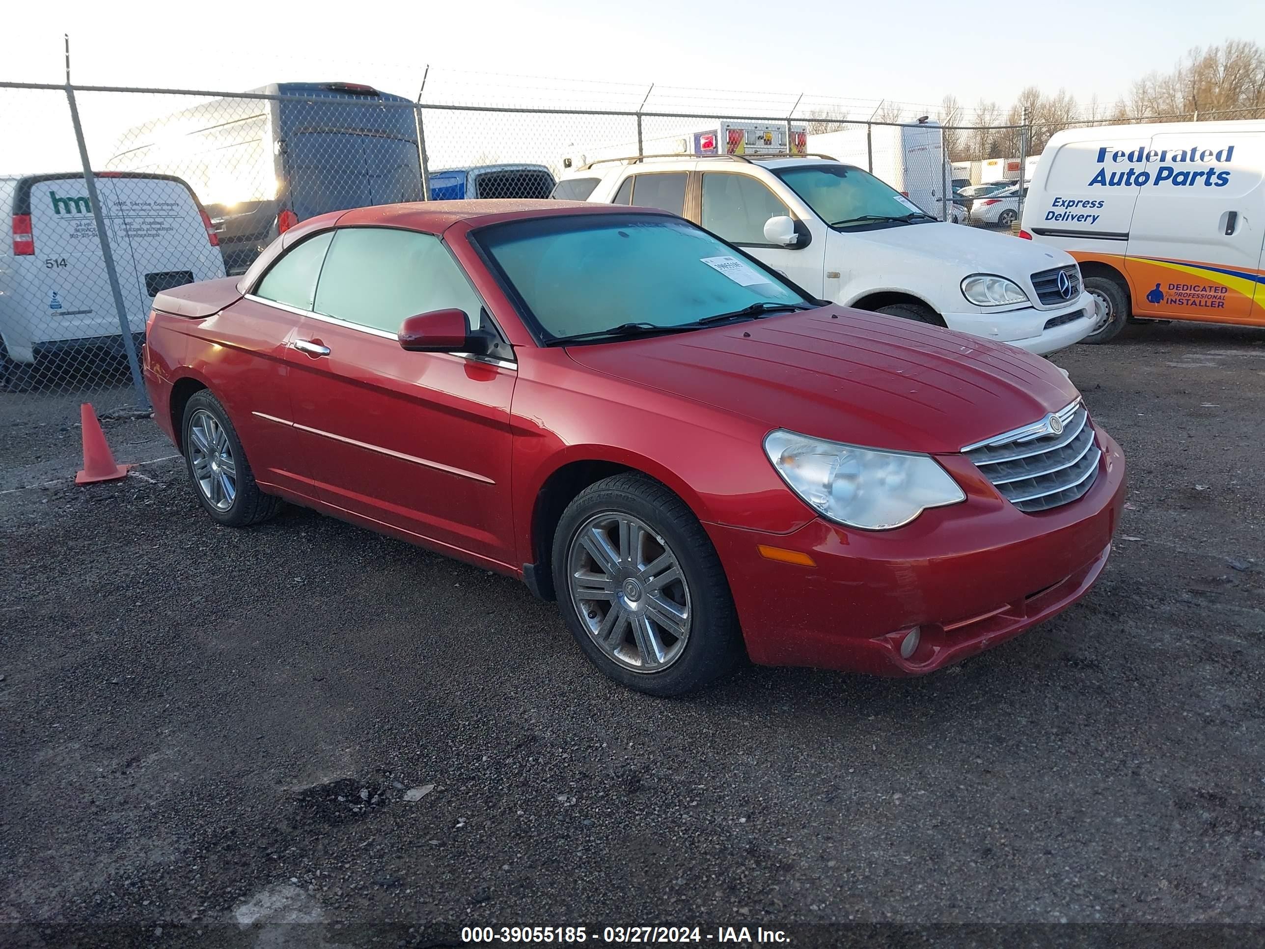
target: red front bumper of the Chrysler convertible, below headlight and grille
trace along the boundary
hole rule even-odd
[[[1125,502],[1125,458],[1098,429],[1094,486],[1023,514],[963,456],[940,462],[966,501],[889,531],[822,519],[791,534],[707,525],[730,581],[751,659],[879,676],[918,676],[997,645],[1066,609],[1093,586]],[[815,567],[765,559],[758,545]],[[915,626],[908,658],[901,643]]]

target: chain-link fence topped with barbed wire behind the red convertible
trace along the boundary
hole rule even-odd
[[[1004,230],[1022,215],[1026,120],[839,118],[802,97],[783,115],[650,111],[649,99],[568,110],[417,104],[354,84],[0,84],[0,120],[23,130],[0,139],[0,419],[14,399],[48,399],[67,416],[78,401],[147,409],[156,295],[238,276],[278,234],[328,211],[584,197],[582,178],[636,156],[815,153],[873,172],[940,220]],[[1052,134],[1049,123],[1040,133]],[[1011,157],[970,161],[973,147]]]

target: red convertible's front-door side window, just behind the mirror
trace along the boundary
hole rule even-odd
[[[396,333],[409,316],[457,307],[479,325],[482,304],[433,234],[343,228],[334,234],[312,309],[361,326]]]

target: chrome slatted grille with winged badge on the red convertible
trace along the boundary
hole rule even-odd
[[[1055,434],[1051,418],[1063,431]],[[1075,501],[1093,487],[1102,452],[1080,400],[1031,425],[966,445],[963,454],[1002,497],[1035,514]]]

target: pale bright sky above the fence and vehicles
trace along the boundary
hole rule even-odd
[[[648,110],[784,115],[806,92],[798,115],[830,105],[829,97],[855,100],[849,109],[856,116],[882,99],[934,106],[946,92],[968,110],[980,97],[1004,110],[1031,84],[1050,92],[1064,87],[1082,102],[1097,94],[1109,105],[1135,78],[1170,70],[1193,46],[1265,37],[1265,0],[62,0],[6,8],[0,80],[62,82],[63,30],[77,84],[239,91],[342,80],[416,97],[429,65],[428,102],[636,109],[653,82]],[[92,162],[104,166],[126,127],[188,104],[83,95]],[[464,115],[435,116],[450,120],[436,148],[472,138],[476,123]],[[0,173],[77,164],[63,94],[0,90]],[[552,139],[564,134],[553,132]],[[478,133],[492,134],[483,127]],[[516,134],[530,138],[526,125]],[[614,133],[572,121],[565,134]],[[521,142],[512,144],[522,151]],[[558,151],[571,142],[536,144]],[[454,153],[454,161],[476,161],[490,148],[467,146],[471,156]]]

